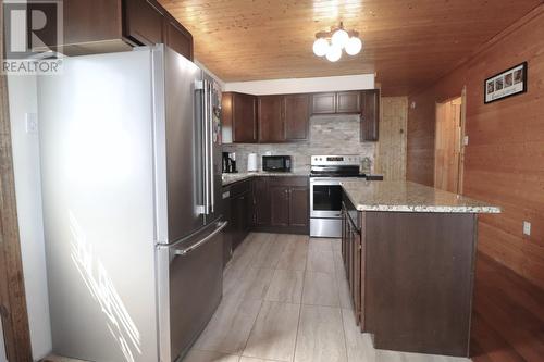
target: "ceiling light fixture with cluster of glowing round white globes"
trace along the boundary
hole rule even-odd
[[[348,55],[357,55],[362,49],[362,41],[356,30],[344,29],[344,24],[331,28],[330,32],[319,32],[313,41],[313,53],[325,57],[330,62],[336,62],[342,58],[342,49]]]

